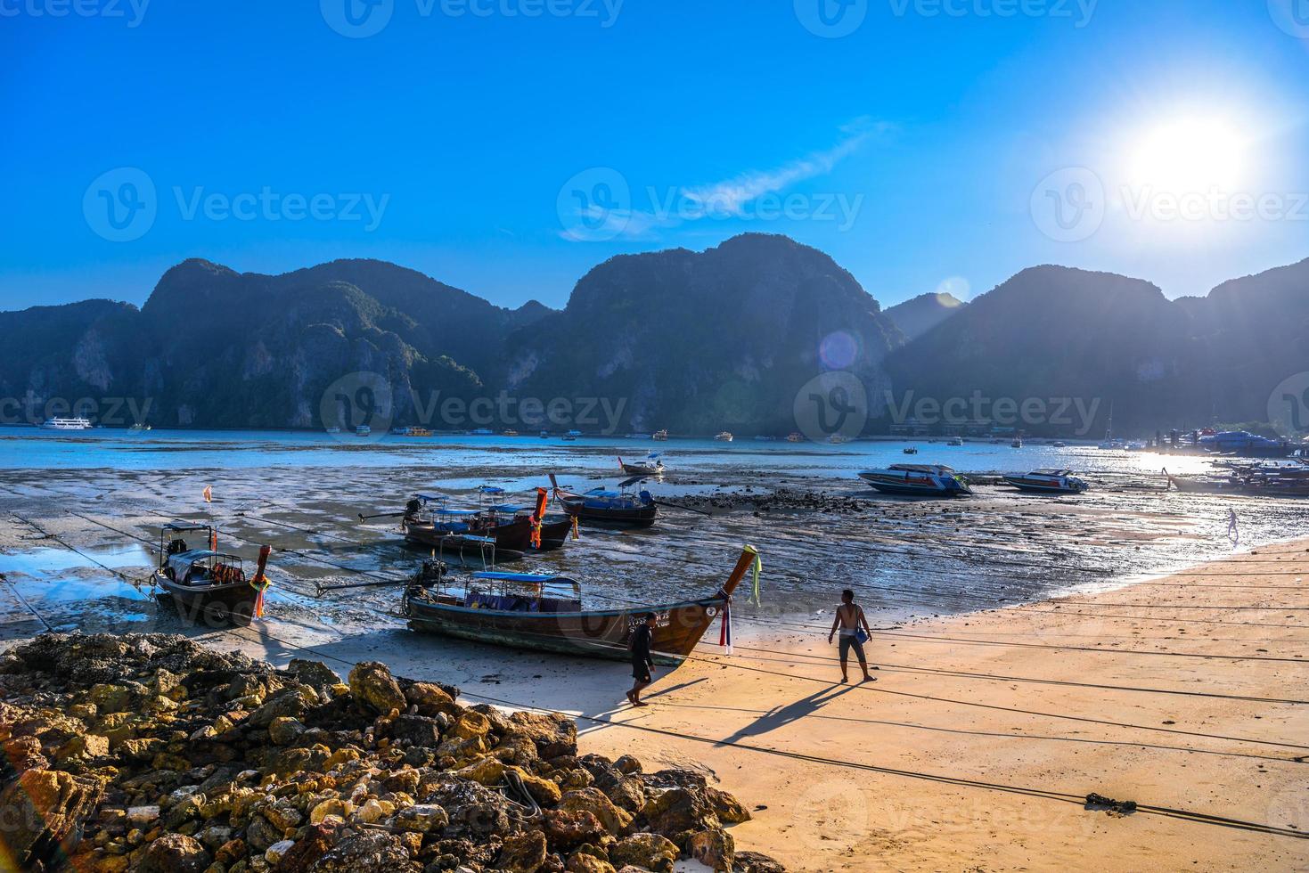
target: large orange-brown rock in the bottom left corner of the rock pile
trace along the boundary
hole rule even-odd
[[[86,817],[103,788],[96,779],[51,770],[27,770],[0,792],[0,840],[20,868],[68,853],[81,839]]]

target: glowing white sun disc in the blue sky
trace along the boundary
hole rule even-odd
[[[1135,144],[1138,185],[1170,194],[1232,190],[1246,168],[1241,128],[1223,118],[1178,118],[1148,128]]]

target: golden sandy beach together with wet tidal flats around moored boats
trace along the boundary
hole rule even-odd
[[[386,508],[376,486],[356,482],[347,491],[350,475],[335,471],[325,482],[315,472],[314,487],[300,482],[293,503],[270,501],[268,483],[285,487],[304,471],[228,475],[216,488],[223,503],[207,509],[188,499],[190,517],[209,512],[240,537],[276,537],[281,575],[266,622],[241,631],[190,628],[158,614],[128,582],[110,581],[103,568],[69,559],[45,575],[13,572],[13,584],[0,585],[8,606],[0,609],[0,641],[42,630],[26,609],[34,606],[55,624],[187,632],[274,662],[315,656],[346,671],[360,660],[384,660],[399,674],[458,685],[473,703],[569,712],[584,720],[586,750],[703,770],[746,804],[764,806],[737,834],[793,869],[1309,866],[1309,840],[1297,838],[1309,832],[1309,542],[1263,544],[1122,586],[1124,568],[1145,563],[1143,548],[1151,560],[1232,552],[1216,504],[1168,503],[1164,512],[1147,512],[1136,497],[1113,493],[1086,501],[988,495],[967,504],[855,495],[867,504],[851,508],[859,512],[778,500],[764,512],[767,499],[721,497],[723,512],[712,518],[668,513],[664,537],[584,534],[579,547],[548,560],[567,561],[560,568],[569,572],[607,569],[607,592],[635,592],[643,571],[664,564],[660,592],[699,590],[716,584],[740,542],[764,551],[764,605],[737,610],[736,652],[711,645],[711,630],[691,661],[658,675],[652,705],[635,711],[622,698],[624,665],[419,636],[390,615],[387,589],[314,597],[315,581],[353,577],[325,560],[381,573],[401,573],[414,560],[394,541],[377,544],[382,529],[343,524],[360,508],[361,488],[372,487],[373,504]],[[391,471],[385,487],[403,493],[432,475]],[[123,576],[140,577],[144,546],[89,520],[148,537],[175,495],[198,493],[212,478],[7,476],[0,550],[67,551],[20,521],[29,518]],[[741,491],[751,483],[713,484]],[[1249,525],[1247,535],[1284,533],[1284,518],[1297,512],[1272,507],[1264,527]],[[1285,513],[1280,525],[1278,513]],[[1021,527],[1005,526],[1014,520]],[[1069,531],[1084,542],[1063,542]],[[844,572],[867,573],[840,569],[853,567],[851,559],[825,551],[822,541],[836,537],[868,550],[861,560],[877,571],[865,592],[880,628],[869,644],[881,666],[872,685],[836,682],[835,647],[826,644],[830,613],[814,616],[821,592]],[[886,552],[874,546],[907,554],[898,576],[884,575]],[[942,561],[936,575],[918,572],[915,561],[931,555]],[[796,581],[788,586],[779,577]],[[117,588],[90,606],[69,603],[55,593],[69,580]],[[918,588],[890,590],[906,584]],[[937,592],[936,599],[924,592]],[[1049,592],[1062,597],[1039,599]],[[994,606],[1004,609],[987,609]],[[953,615],[911,618],[915,611]],[[1088,810],[1092,792],[1143,809]]]

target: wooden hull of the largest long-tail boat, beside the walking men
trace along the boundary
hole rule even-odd
[[[627,650],[637,620],[647,613],[652,626],[652,654],[656,664],[677,665],[691,654],[704,632],[720,619],[732,592],[754,564],[758,552],[746,547],[732,575],[713,597],[662,606],[636,606],[623,610],[577,613],[524,613],[471,609],[457,598],[431,597],[423,589],[404,593],[402,611],[415,631],[441,633],[475,643],[490,643],[535,652],[558,652],[627,661]]]

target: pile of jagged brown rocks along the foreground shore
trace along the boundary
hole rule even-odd
[[[0,656],[0,866],[774,873],[696,772],[580,755],[564,716],[463,707],[378,662],[343,683],[182,636],[47,633]]]

